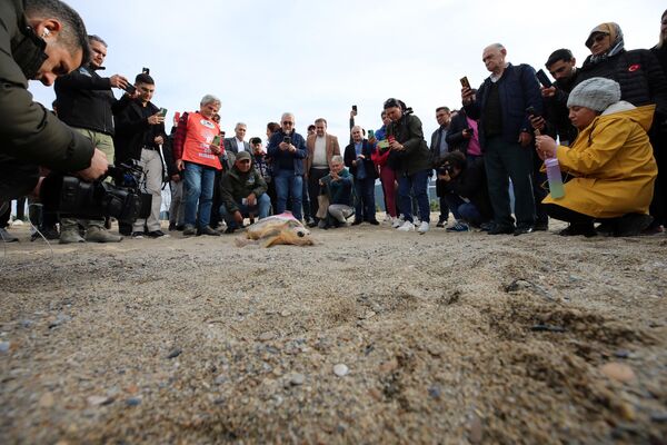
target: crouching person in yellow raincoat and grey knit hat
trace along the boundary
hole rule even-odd
[[[574,145],[557,146],[548,136],[538,136],[540,158],[557,158],[563,172],[573,178],[565,196],[547,196],[551,218],[570,225],[560,235],[634,236],[648,227],[648,206],[658,169],[647,131],[655,106],[634,107],[620,101],[620,87],[610,79],[591,78],[569,95],[567,106],[579,130]]]

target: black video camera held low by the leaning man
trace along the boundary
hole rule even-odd
[[[40,188],[44,209],[78,218],[115,217],[133,222],[150,215],[152,196],[139,190],[145,182],[143,169],[130,159],[120,166],[109,166],[107,175],[86,182],[74,176],[50,174]],[[113,185],[104,181],[113,179]]]

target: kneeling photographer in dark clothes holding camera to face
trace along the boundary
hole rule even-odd
[[[484,160],[471,162],[460,151],[445,155],[437,167],[438,184],[444,190],[438,190],[456,218],[456,224],[447,231],[467,231],[468,224],[472,227],[487,228],[492,218],[491,202],[487,189]]]

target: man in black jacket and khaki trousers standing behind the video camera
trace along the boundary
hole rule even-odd
[[[128,80],[115,75],[109,78],[100,77],[97,71],[102,68],[107,57],[107,43],[98,36],[88,36],[91,59],[71,73],[56,80],[56,100],[58,117],[71,128],[83,135],[113,159],[113,111],[127,105],[129,98],[120,103],[116,100],[111,88],[125,89]],[[94,243],[118,243],[121,236],[108,233],[103,219],[61,218],[60,244],[83,243],[79,235],[78,224],[86,229],[86,240]]]

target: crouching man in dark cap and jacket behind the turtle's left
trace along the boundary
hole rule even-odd
[[[220,179],[220,216],[227,222],[227,234],[243,226],[243,217],[259,219],[269,216],[271,199],[267,195],[267,182],[250,165],[250,154],[239,151],[231,170]]]

